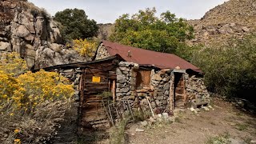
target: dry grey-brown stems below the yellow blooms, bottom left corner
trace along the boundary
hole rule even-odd
[[[11,103],[0,110],[0,143],[14,143],[20,139],[22,143],[48,142],[57,134],[58,123],[70,110],[73,101],[42,102],[31,114],[22,111],[11,112]]]

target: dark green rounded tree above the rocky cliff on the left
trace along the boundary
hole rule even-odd
[[[84,10],[66,9],[55,14],[54,20],[61,23],[60,30],[65,42],[72,39],[97,36],[98,26],[88,19]]]

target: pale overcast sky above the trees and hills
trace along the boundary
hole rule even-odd
[[[170,10],[178,18],[199,19],[206,11],[227,0],[29,0],[45,8],[51,15],[67,8],[86,11],[98,23],[114,23],[122,14],[135,14],[147,7],[156,7],[158,14]]]

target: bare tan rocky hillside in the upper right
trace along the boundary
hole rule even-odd
[[[256,29],[256,1],[230,0],[208,11],[200,20],[188,21],[195,30],[190,43],[222,42],[242,38]]]

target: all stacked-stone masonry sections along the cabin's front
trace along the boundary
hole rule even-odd
[[[150,86],[136,86],[138,71],[143,70],[142,66],[133,62],[119,62],[116,69],[116,102],[128,102],[132,110],[150,111],[150,106],[155,114],[163,112],[172,112],[173,102],[170,98],[173,96],[174,72],[173,70],[152,69],[150,74]],[[56,70],[57,71],[57,70]],[[79,69],[58,70],[59,74],[69,78],[75,87],[75,98],[79,100],[79,83],[82,71]],[[189,74],[184,74],[186,102],[200,103],[209,102],[209,94],[203,82],[203,78],[197,78]],[[77,101],[78,102],[78,101]],[[150,102],[150,106],[149,106]],[[74,107],[78,110],[79,104]],[[190,107],[189,105],[186,105]],[[126,106],[123,106],[126,107]],[[129,110],[128,108],[125,110]],[[127,111],[128,112],[128,111]],[[74,114],[77,116],[78,114]]]

